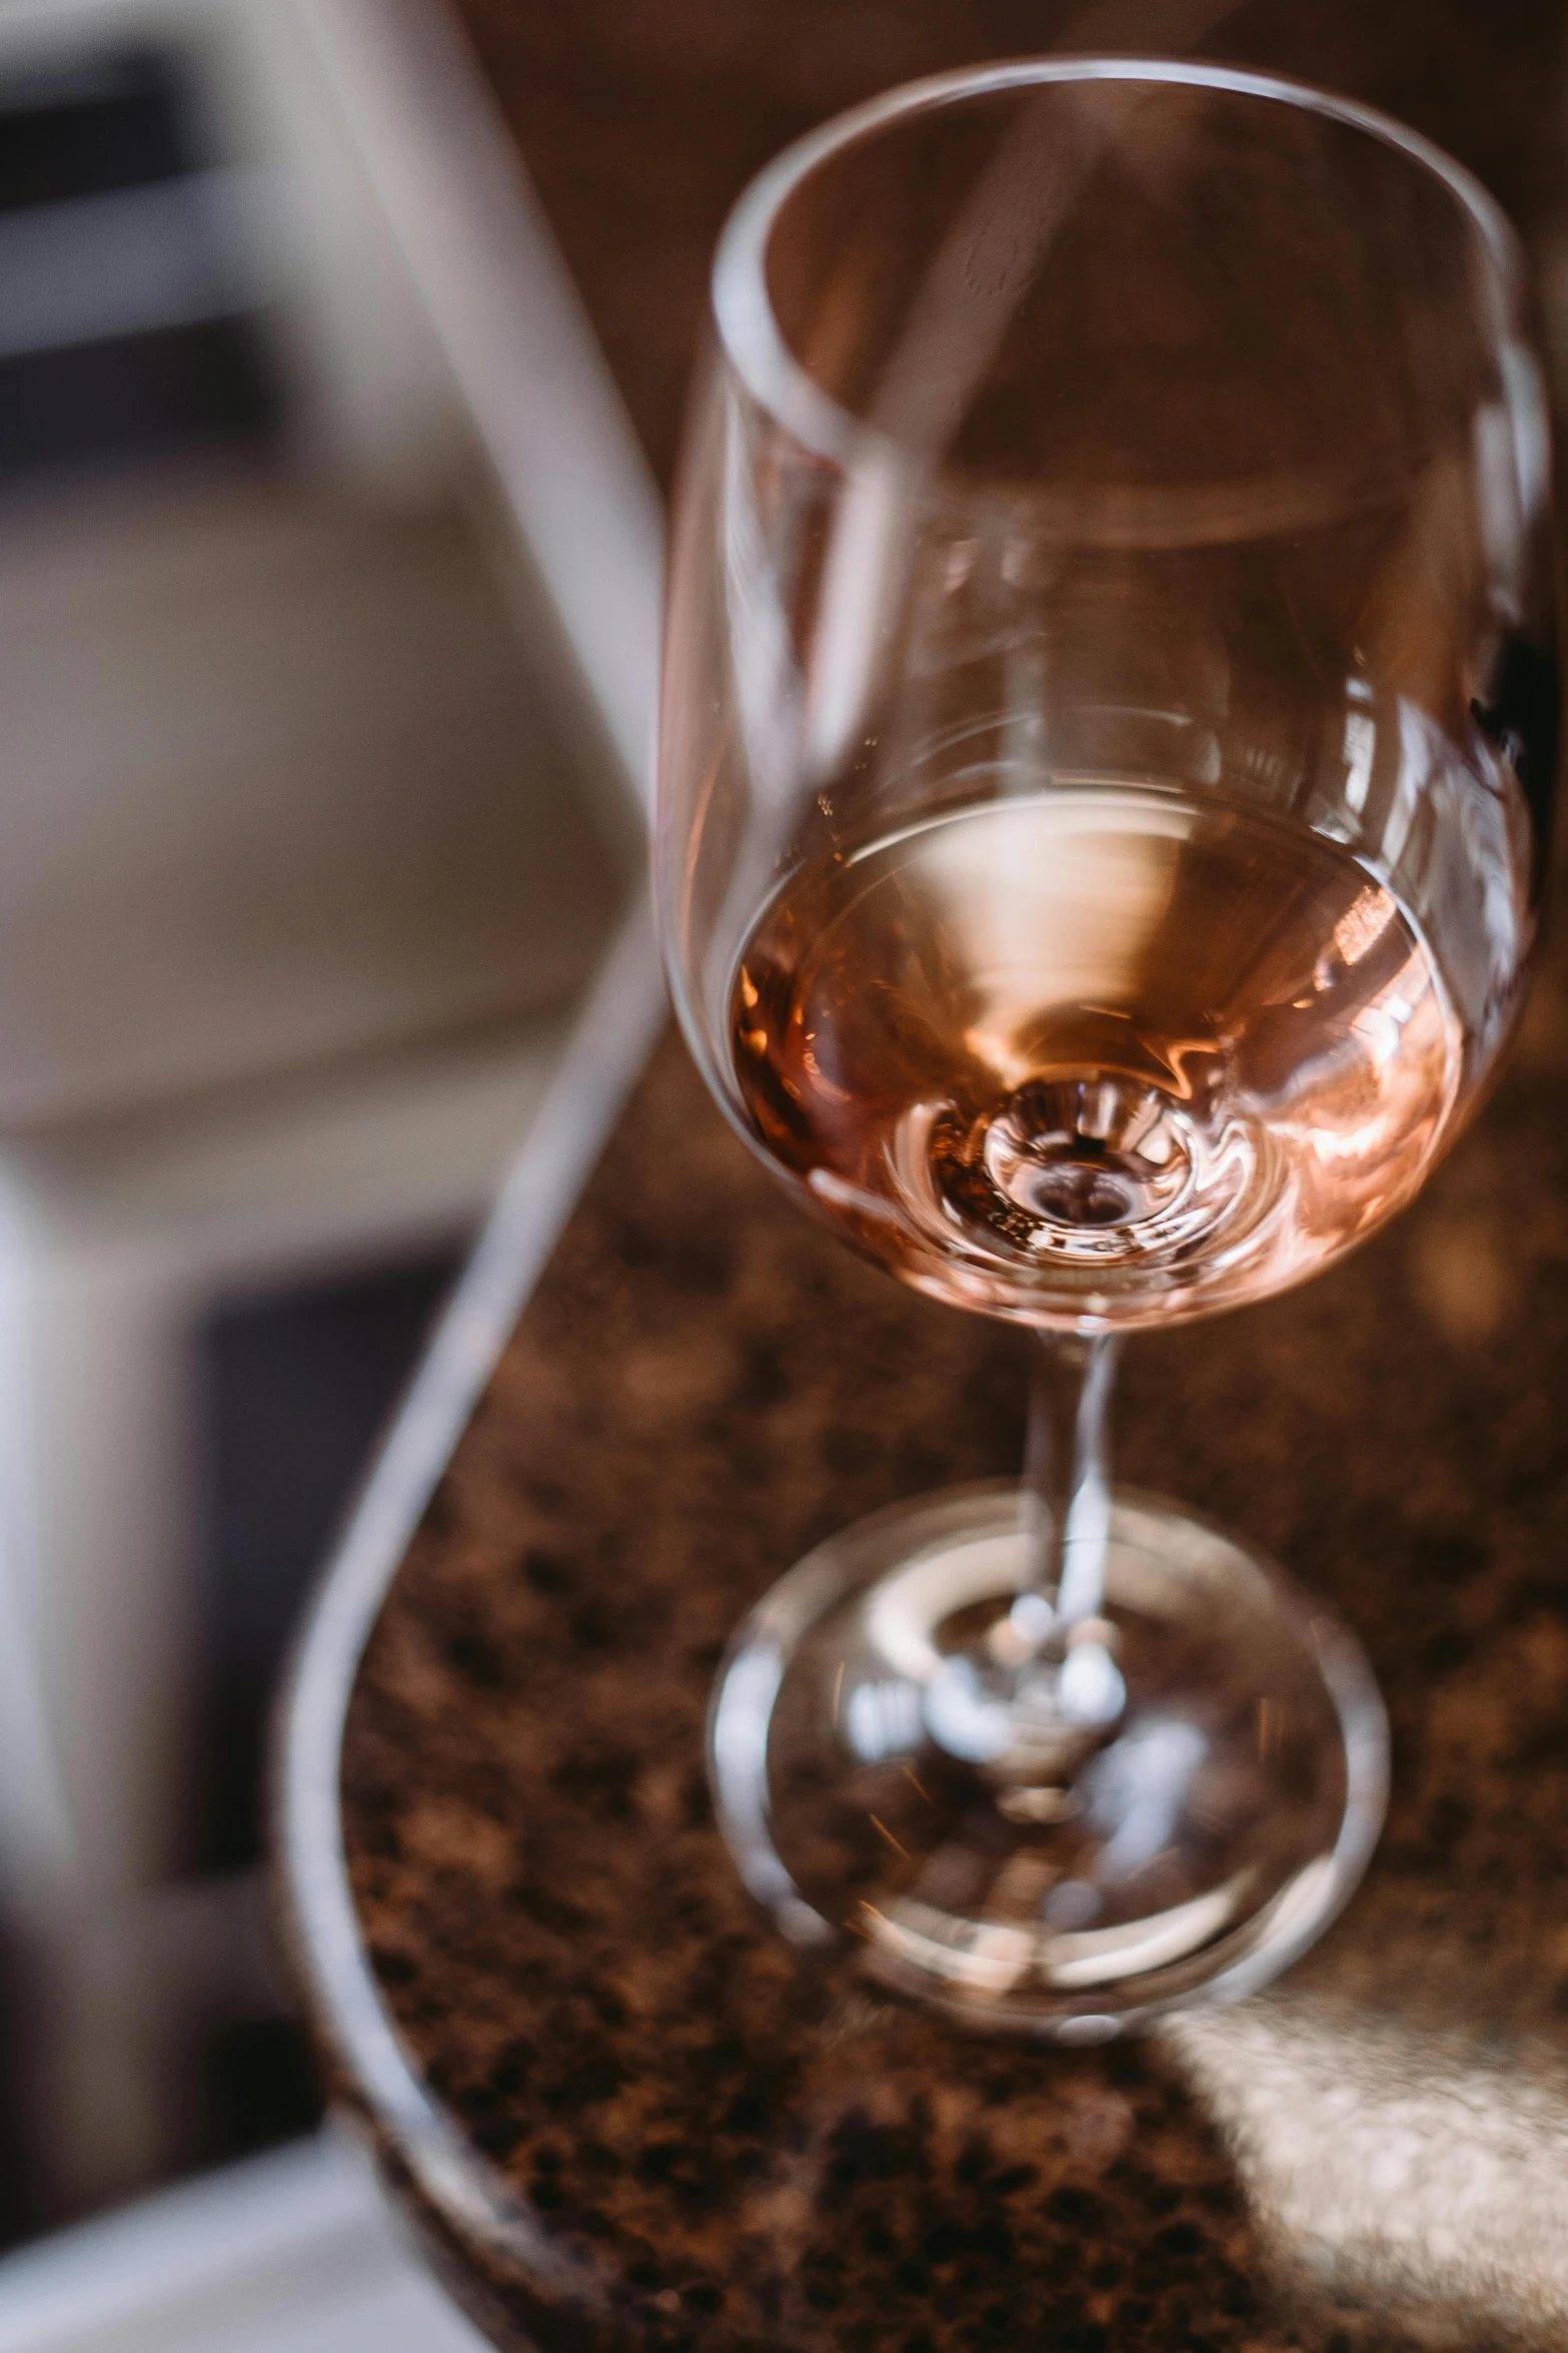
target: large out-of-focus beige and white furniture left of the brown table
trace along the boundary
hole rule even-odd
[[[195,75],[294,447],[0,518],[0,1908],[78,2202],[266,1969],[174,1875],[188,1334],[473,1231],[637,896],[661,569],[437,0],[7,0],[0,71],[106,38]]]

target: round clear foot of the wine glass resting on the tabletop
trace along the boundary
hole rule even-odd
[[[844,1529],[752,1609],[710,1715],[741,1878],[797,1944],[853,1941],[973,2026],[1100,2042],[1253,1993],[1382,1826],[1361,1647],[1237,1537],[1131,1489],[1103,1614],[1056,1647],[1025,1640],[1039,1602],[1013,1607],[1025,1558],[1020,1489],[959,1487]]]

